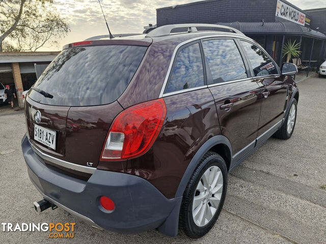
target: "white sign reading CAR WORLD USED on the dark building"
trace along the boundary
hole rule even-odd
[[[306,15],[281,1],[277,1],[275,15],[282,19],[305,26]]]

